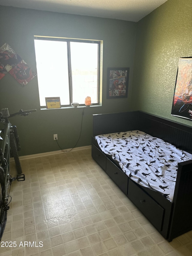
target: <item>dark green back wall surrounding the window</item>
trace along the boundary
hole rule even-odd
[[[85,108],[77,147],[91,145],[92,114],[130,109],[135,22],[0,6],[0,24],[0,47],[8,43],[35,72],[34,35],[103,40],[102,107]],[[54,54],[55,50],[50,50],[50,61],[54,61]],[[108,67],[130,67],[128,98],[106,99]],[[7,74],[0,80],[0,97],[0,109],[8,107],[10,113],[37,109],[30,116],[11,119],[18,128],[20,155],[59,150],[53,134],[58,134],[62,149],[72,148],[77,142],[82,108],[40,110],[37,77],[22,87]]]

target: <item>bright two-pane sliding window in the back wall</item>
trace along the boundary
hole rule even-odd
[[[99,103],[101,41],[35,36],[35,55],[41,107],[45,97],[60,97],[61,106],[71,102]]]

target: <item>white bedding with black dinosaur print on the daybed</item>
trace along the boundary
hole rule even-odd
[[[95,139],[130,179],[173,201],[177,163],[191,160],[190,153],[138,130],[98,135]]]

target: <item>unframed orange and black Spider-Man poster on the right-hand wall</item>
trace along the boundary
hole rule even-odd
[[[192,120],[192,57],[179,58],[171,115]]]

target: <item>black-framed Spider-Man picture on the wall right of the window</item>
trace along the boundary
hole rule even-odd
[[[107,99],[127,98],[129,68],[107,68]]]

